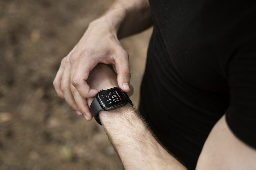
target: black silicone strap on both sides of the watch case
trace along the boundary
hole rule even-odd
[[[124,93],[124,96],[126,97],[127,101],[128,101],[129,103],[131,103],[131,105],[133,106],[132,101],[131,101],[131,99],[129,98],[129,96],[128,96],[125,92],[123,92],[123,93]],[[92,112],[92,115],[93,115],[94,119],[95,119],[100,125],[102,125],[101,122],[100,122],[100,117],[99,117],[99,112],[100,112],[101,110],[105,110],[105,109],[103,109],[103,108],[101,107],[101,105],[100,105],[100,103],[99,103],[99,101],[97,100],[97,97],[96,97],[96,98],[92,101],[92,103],[91,103],[91,112]]]

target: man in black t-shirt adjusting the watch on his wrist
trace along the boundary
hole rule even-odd
[[[101,111],[124,167],[256,169],[255,8],[244,2],[116,1],[62,60],[56,91],[90,121],[88,105],[98,90],[118,85],[130,91],[129,56],[118,38],[154,23],[140,112],[165,148],[130,104]],[[113,70],[98,63],[114,64],[118,83]]]

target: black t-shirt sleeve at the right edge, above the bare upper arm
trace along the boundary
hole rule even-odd
[[[230,105],[226,121],[243,142],[256,148],[256,43],[244,44],[227,66]]]

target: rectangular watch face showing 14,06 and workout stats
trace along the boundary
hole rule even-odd
[[[101,91],[97,94],[97,97],[102,106],[107,109],[127,103],[127,99],[124,96],[123,91],[118,87]]]

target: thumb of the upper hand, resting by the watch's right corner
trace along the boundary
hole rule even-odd
[[[118,86],[124,91],[130,91],[131,71],[129,68],[129,55],[119,57],[115,61],[115,68],[117,71]]]

